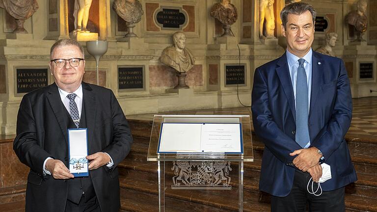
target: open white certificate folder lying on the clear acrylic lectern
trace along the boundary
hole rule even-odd
[[[242,153],[239,123],[162,123],[159,153]]]

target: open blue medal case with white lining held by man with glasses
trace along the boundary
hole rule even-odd
[[[87,129],[68,129],[69,171],[75,177],[89,176]]]

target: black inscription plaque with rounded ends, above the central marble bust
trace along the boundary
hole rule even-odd
[[[179,7],[162,7],[156,13],[155,19],[162,29],[182,29],[187,23],[187,14]]]

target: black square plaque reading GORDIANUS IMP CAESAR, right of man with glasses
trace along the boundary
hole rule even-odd
[[[144,89],[144,66],[118,67],[119,89]]]

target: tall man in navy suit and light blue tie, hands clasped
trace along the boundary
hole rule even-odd
[[[304,212],[307,202],[311,211],[344,211],[344,186],[357,180],[344,139],[350,81],[341,59],[312,51],[311,5],[289,4],[280,17],[287,51],[254,74],[253,125],[265,143],[259,188],[272,195],[271,211]],[[310,192],[322,177],[321,163],[330,166],[331,179],[316,196]]]

